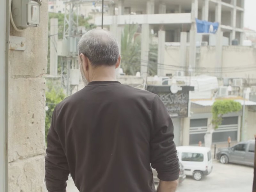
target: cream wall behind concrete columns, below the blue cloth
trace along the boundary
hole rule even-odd
[[[202,46],[199,48],[198,67],[206,68],[199,70],[197,74],[215,75],[216,49],[214,46]],[[189,51],[188,51],[189,52]],[[176,70],[184,68],[168,67],[168,65],[180,66],[180,47],[166,47],[164,58],[165,73],[175,74]],[[188,66],[187,58],[187,66]],[[256,49],[244,46],[223,46],[222,51],[222,76],[230,78],[255,78]],[[167,68],[170,68],[169,70]]]

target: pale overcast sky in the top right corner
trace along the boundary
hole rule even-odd
[[[256,0],[245,0],[244,27],[256,31]]]

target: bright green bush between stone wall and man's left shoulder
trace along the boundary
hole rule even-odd
[[[45,141],[47,142],[47,134],[50,129],[52,121],[52,112],[56,105],[65,99],[63,89],[56,90],[52,85],[49,85],[49,91],[45,93],[46,96],[46,106],[48,110],[45,112]]]

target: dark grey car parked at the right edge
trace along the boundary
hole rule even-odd
[[[233,147],[219,148],[217,159],[220,163],[236,163],[253,166],[255,153],[255,140],[240,142]]]

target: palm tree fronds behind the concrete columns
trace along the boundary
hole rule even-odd
[[[141,37],[137,33],[137,24],[125,25],[121,37],[121,68],[127,75],[135,75],[140,71],[140,64],[147,65],[147,63],[140,59],[141,53]],[[157,73],[157,44],[149,44],[149,62],[148,75],[154,76]]]

